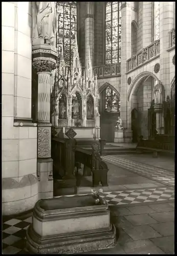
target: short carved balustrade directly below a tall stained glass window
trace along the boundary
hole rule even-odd
[[[108,64],[100,67],[94,67],[94,76],[98,78],[106,76],[121,75],[121,63]]]

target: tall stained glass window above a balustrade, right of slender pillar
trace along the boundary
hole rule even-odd
[[[106,64],[121,61],[121,2],[106,4],[105,20],[105,62]]]

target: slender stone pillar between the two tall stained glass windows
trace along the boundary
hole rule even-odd
[[[86,2],[85,17],[85,65],[87,65],[89,58],[91,58],[92,66],[94,58],[94,3]],[[89,56],[89,48],[91,57]]]

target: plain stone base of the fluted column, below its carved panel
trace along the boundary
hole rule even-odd
[[[39,180],[39,197],[53,198],[53,159],[37,160],[37,177]]]

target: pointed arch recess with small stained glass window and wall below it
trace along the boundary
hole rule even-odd
[[[105,83],[100,92],[100,134],[101,139],[114,142],[116,120],[120,116],[120,94],[109,83]]]

